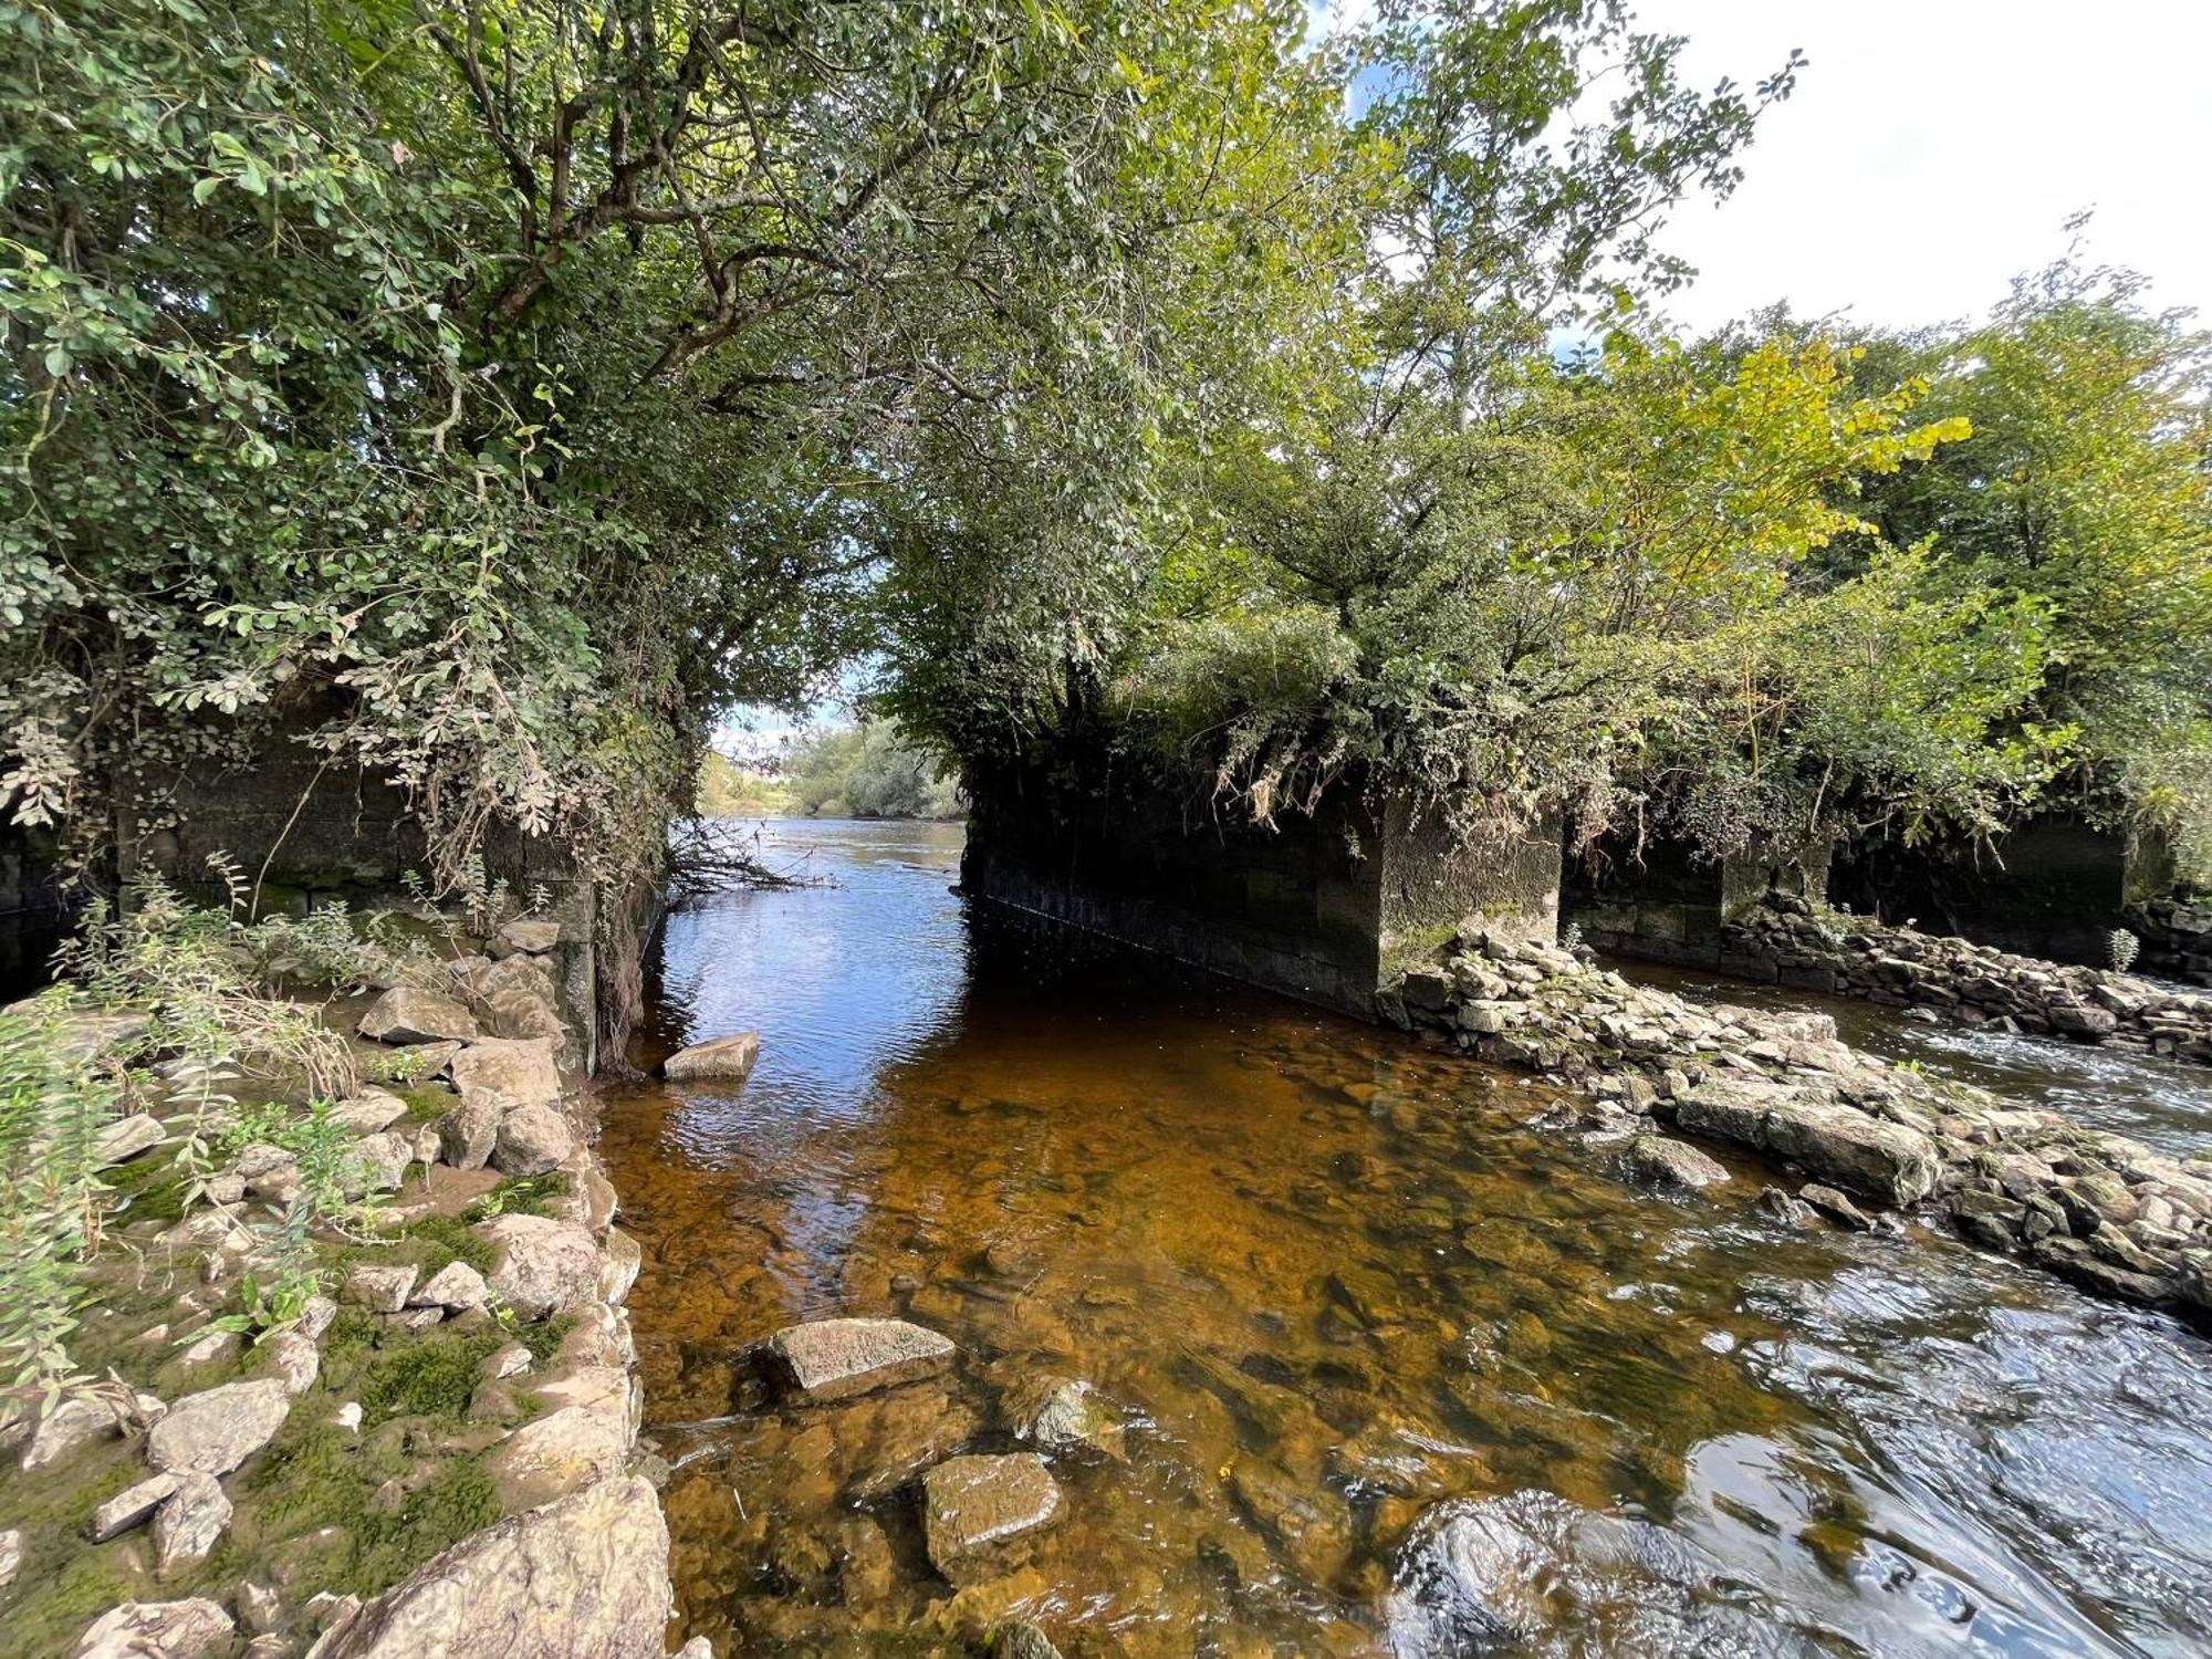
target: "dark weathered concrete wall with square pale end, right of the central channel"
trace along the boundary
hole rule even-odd
[[[1469,911],[1524,938],[1557,929],[1551,825],[1455,847],[1438,818],[1378,807],[1347,783],[1314,814],[1261,830],[1104,761],[971,770],[967,794],[969,894],[1363,1020],[1391,1015],[1378,991],[1396,962]]]

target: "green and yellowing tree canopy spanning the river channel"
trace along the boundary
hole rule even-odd
[[[0,794],[97,863],[303,741],[653,867],[854,661],[1104,741],[1725,852],[2212,801],[2205,349],[1677,341],[1798,62],[1626,0],[38,0],[0,13]]]

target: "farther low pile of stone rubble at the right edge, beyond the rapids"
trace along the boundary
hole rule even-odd
[[[1732,920],[1721,949],[1736,978],[2212,1064],[2212,993],[2135,973],[2044,962],[1962,938],[1814,911],[1794,894],[1770,894],[1765,905]]]

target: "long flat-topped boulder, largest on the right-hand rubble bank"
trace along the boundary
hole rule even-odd
[[[1714,1077],[1674,1102],[1674,1121],[1790,1159],[1891,1208],[1924,1199],[1940,1168],[1929,1135],[1787,1084]]]

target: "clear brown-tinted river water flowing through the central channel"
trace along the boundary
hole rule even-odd
[[[1787,1232],[1752,1164],[1641,1190],[1531,1128],[1542,1086],[971,914],[958,830],[770,841],[836,885],[677,916],[641,1044],[759,1029],[754,1077],[606,1110],[681,1635],[2212,1650],[2212,1371],[2181,1327],[1951,1241]],[[761,1407],[739,1349],[830,1314],[960,1360]],[[914,1478],[1015,1447],[1057,1378],[1119,1455],[1055,1455],[1060,1522],[945,1582]]]

